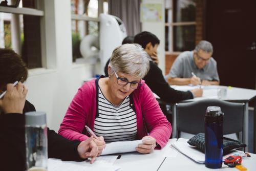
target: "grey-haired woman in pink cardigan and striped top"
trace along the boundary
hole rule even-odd
[[[85,82],[72,100],[59,134],[86,140],[90,127],[101,154],[105,143],[143,139],[136,150],[151,153],[167,143],[172,126],[142,78],[149,69],[147,53],[139,45],[117,47],[108,66],[109,77]]]

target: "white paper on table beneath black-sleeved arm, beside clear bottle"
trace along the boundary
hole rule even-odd
[[[100,156],[97,157],[93,164],[89,161],[75,162],[75,161],[61,161],[59,159],[48,159],[48,171],[84,171],[84,170],[104,170],[104,171],[115,171],[120,167],[113,166],[113,158],[117,156]]]

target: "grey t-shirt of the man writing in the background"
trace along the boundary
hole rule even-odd
[[[173,78],[190,78],[193,76],[191,72],[201,78],[201,80],[220,81],[217,71],[217,62],[214,58],[211,57],[204,68],[198,69],[193,58],[193,51],[182,52],[176,58],[169,74],[166,76]]]

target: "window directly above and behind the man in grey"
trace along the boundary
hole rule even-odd
[[[196,42],[196,1],[166,1],[165,50],[182,52],[193,50]]]

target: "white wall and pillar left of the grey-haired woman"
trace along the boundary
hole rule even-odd
[[[27,99],[47,113],[50,129],[59,124],[83,80],[92,77],[90,64],[72,63],[71,5],[69,0],[45,0],[46,54],[50,69],[29,70]],[[42,46],[42,47],[44,47]]]

